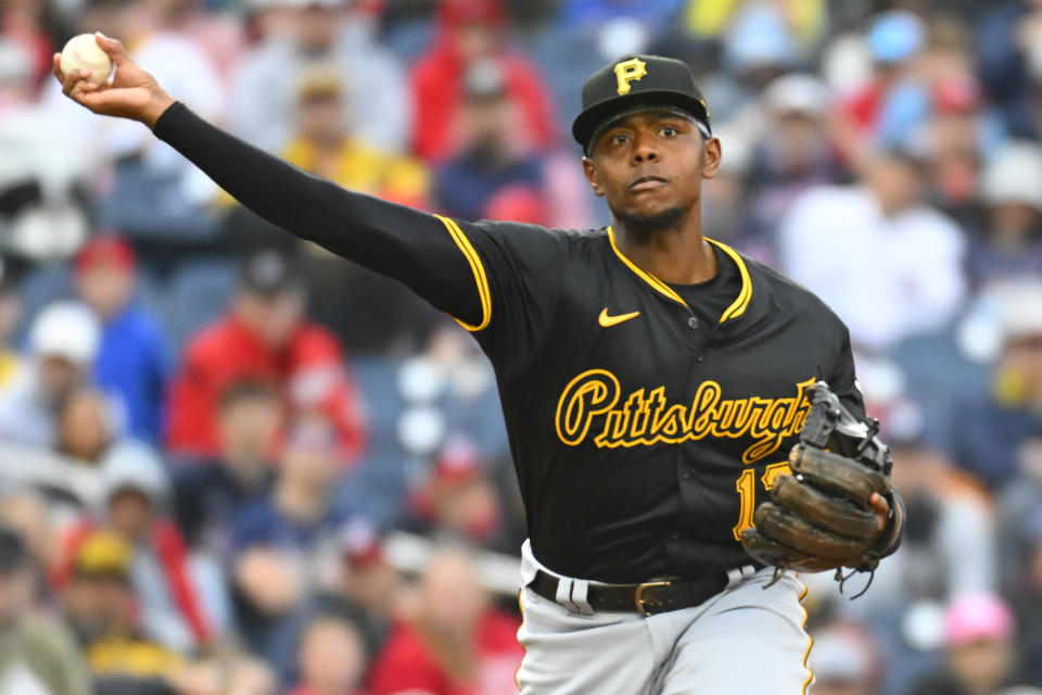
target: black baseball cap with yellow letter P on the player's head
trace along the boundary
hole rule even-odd
[[[588,153],[601,126],[641,106],[679,110],[712,135],[706,99],[687,64],[631,53],[605,65],[583,85],[583,111],[572,123],[572,136]]]

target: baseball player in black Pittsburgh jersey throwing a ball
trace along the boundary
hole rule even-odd
[[[612,224],[551,230],[430,215],[304,174],[98,42],[114,83],[63,75],[55,56],[66,94],[140,121],[269,222],[406,283],[491,358],[528,513],[523,694],[806,691],[804,589],[786,568],[874,567],[900,536],[899,505],[882,477],[862,485],[856,521],[871,529],[854,559],[823,559],[818,546],[835,551],[808,525],[775,525],[795,540],[758,536],[755,556],[741,542],[770,535],[759,516],[752,529],[767,490],[799,492],[827,457],[850,463],[793,448],[814,384],[838,395],[829,417],[866,417],[836,315],[702,237],[721,144],[686,65],[627,55],[586,81],[572,132]],[[812,511],[838,500],[814,494]]]

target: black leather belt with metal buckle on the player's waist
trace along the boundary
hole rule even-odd
[[[557,602],[559,583],[557,577],[538,570],[529,586],[539,596]],[[589,584],[586,603],[595,611],[639,612],[647,617],[698,606],[710,596],[722,592],[725,586],[727,576],[724,572],[695,581],[663,579],[618,586]]]

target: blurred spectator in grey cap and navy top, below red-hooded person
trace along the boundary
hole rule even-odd
[[[435,198],[446,215],[461,219],[511,219],[548,224],[543,162],[519,150],[504,66],[470,64],[456,114],[460,148],[437,167]]]

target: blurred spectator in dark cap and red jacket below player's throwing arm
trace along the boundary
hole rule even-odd
[[[171,392],[167,444],[178,454],[218,451],[220,394],[237,381],[277,383],[292,418],[319,412],[334,426],[339,455],[356,458],[365,442],[358,393],[336,339],[304,319],[303,278],[274,250],[251,256],[229,315],[188,346]]]

